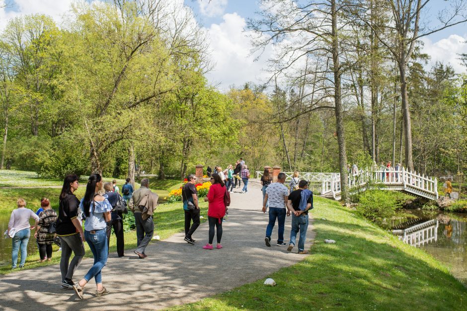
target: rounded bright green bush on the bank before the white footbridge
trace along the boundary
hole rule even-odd
[[[395,214],[395,210],[401,206],[398,192],[385,190],[367,190],[360,195],[357,212],[375,221],[388,218]]]

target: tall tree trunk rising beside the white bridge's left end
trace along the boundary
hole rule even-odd
[[[332,61],[334,73],[334,102],[336,115],[337,144],[339,146],[340,188],[341,198],[349,203],[349,189],[347,187],[347,154],[345,150],[344,116],[341,102],[341,68],[339,62],[339,42],[337,38],[337,10],[336,0],[331,0],[331,28],[332,28]]]

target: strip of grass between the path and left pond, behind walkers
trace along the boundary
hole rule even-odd
[[[201,207],[201,216],[204,218],[201,219],[203,223],[206,221],[207,211],[208,211],[208,203],[207,202],[200,202]],[[181,202],[171,203],[171,204],[161,204],[156,209],[156,214],[154,216],[154,235],[159,235],[160,239],[166,239],[171,235],[181,232],[184,230],[184,220],[185,214],[183,213],[183,207]],[[136,231],[125,232],[125,249],[135,249],[136,248]],[[110,238],[110,252],[117,251],[116,246],[116,238],[115,235],[112,235]],[[11,242],[10,242],[11,243]],[[31,242],[29,242],[31,243]],[[153,240],[152,243],[157,243]],[[54,246],[54,250],[57,250],[58,247]],[[91,257],[92,253],[87,246],[87,243],[84,243],[84,249],[86,251],[85,257]],[[130,254],[129,251],[125,251],[128,255]],[[58,264],[60,263],[60,252],[54,251],[52,255],[51,262],[44,262],[39,263],[39,252],[36,251],[35,253],[28,253],[26,264],[23,268],[24,269],[31,269],[39,266],[50,265],[50,264]],[[19,258],[18,258],[19,261]],[[58,269],[59,267],[57,267]],[[0,275],[8,274],[8,273],[15,273],[20,271],[21,269],[17,269],[15,271],[11,270],[11,263],[8,262],[5,265],[0,266]]]

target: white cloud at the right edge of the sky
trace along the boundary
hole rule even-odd
[[[427,70],[430,70],[435,62],[442,62],[451,64],[457,73],[466,72],[466,67],[459,60],[459,54],[467,53],[467,34],[464,37],[453,34],[437,42],[432,42],[429,38],[423,38],[422,41],[422,52],[431,56]]]

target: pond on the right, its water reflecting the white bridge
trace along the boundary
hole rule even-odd
[[[402,210],[389,227],[404,243],[424,249],[467,284],[467,214]]]

